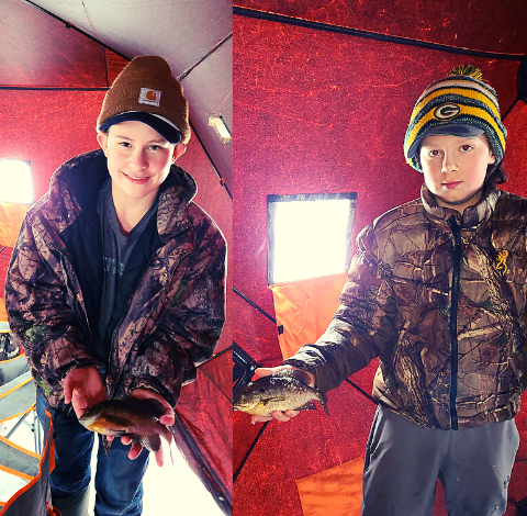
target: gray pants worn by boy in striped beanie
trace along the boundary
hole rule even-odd
[[[514,419],[434,430],[379,405],[365,459],[362,516],[431,516],[437,479],[449,516],[501,516],[519,446]]]

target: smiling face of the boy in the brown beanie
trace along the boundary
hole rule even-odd
[[[143,122],[128,121],[110,126],[97,139],[108,158],[114,202],[154,202],[167,179],[170,166],[183,154],[184,145],[168,143]]]

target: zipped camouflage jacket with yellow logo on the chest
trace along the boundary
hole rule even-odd
[[[285,363],[327,391],[379,357],[373,395],[419,426],[512,418],[526,359],[527,200],[492,188],[463,215],[421,199],[357,237],[340,306]]]

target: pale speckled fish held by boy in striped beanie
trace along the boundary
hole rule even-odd
[[[309,375],[299,370],[282,369],[248,383],[234,401],[234,408],[257,416],[269,416],[272,411],[316,408],[316,400],[326,414],[327,396],[307,385]]]

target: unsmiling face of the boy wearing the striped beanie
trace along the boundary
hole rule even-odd
[[[440,206],[463,213],[481,198],[486,167],[495,161],[486,136],[427,136],[421,165],[428,190]]]

